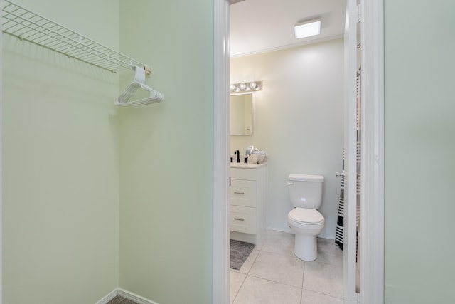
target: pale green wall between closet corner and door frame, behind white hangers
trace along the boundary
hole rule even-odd
[[[152,65],[163,103],[121,109],[120,288],[211,303],[213,6],[121,1],[121,51]],[[122,77],[127,85],[132,75]]]

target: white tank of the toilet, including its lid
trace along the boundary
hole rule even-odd
[[[288,177],[289,196],[294,207],[319,209],[322,203],[322,175],[291,174]]]

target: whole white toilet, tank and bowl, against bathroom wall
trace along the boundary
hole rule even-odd
[[[318,257],[316,236],[324,227],[324,217],[317,210],[322,202],[321,175],[291,174],[288,177],[289,196],[295,207],[287,215],[289,226],[295,233],[294,253],[304,261]]]

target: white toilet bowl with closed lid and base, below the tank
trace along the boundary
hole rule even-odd
[[[287,215],[289,226],[295,233],[294,254],[304,261],[318,258],[316,236],[324,227],[324,217],[316,209],[296,207]]]

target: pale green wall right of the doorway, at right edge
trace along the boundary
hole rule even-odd
[[[385,1],[385,303],[455,303],[454,16]]]

